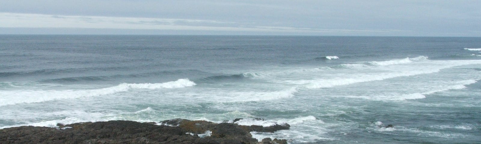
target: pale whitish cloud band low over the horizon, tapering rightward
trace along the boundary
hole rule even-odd
[[[72,16],[31,13],[0,13],[4,28],[99,28],[139,30],[247,31],[286,33],[389,33],[401,30],[383,29],[318,29],[289,26],[244,25],[246,23],[198,19],[162,19],[142,17]]]

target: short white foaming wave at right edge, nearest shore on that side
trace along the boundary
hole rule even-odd
[[[427,91],[427,92],[424,92],[424,93],[413,93],[413,94],[409,94],[409,95],[405,95],[405,96],[402,96],[400,98],[397,98],[396,100],[426,98],[426,95],[431,95],[431,94],[438,93],[438,92],[454,90],[454,89],[464,89],[464,88],[466,88],[465,85],[474,84],[474,83],[477,83],[478,81],[479,80],[464,80],[464,81],[457,82],[456,85],[450,85],[450,86],[447,86],[447,87],[444,87],[444,88],[441,88],[441,89],[431,90],[431,91]]]

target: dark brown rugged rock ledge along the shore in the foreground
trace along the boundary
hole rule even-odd
[[[245,126],[204,120],[174,119],[157,122],[111,120],[57,124],[59,128],[21,126],[0,130],[1,144],[287,144],[250,132],[288,130],[289,124]]]

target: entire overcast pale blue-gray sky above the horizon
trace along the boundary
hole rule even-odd
[[[481,0],[2,0],[0,34],[481,36]]]

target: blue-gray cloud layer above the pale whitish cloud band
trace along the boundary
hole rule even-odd
[[[309,35],[327,35],[325,30],[329,29],[329,35],[337,30],[337,34],[363,36],[481,36],[479,0],[6,0],[2,3],[0,12],[176,20],[138,22],[142,24],[291,27],[310,29]]]

